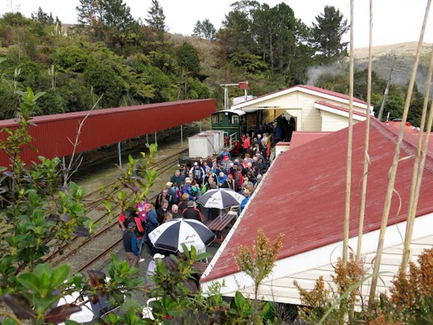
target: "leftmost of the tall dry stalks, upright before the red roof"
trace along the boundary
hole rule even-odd
[[[346,210],[344,214],[343,264],[347,264],[349,248],[350,190],[352,186],[352,133],[353,133],[353,0],[350,0],[350,65],[349,65],[349,131],[346,160]]]

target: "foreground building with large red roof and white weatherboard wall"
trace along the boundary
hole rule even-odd
[[[293,288],[291,277],[309,277],[314,285],[314,276],[317,278],[318,275],[332,272],[332,267],[328,264],[331,258],[336,257],[332,254],[335,247],[341,246],[343,239],[347,132],[347,129],[332,132],[282,152],[274,160],[249,204],[203,274],[203,288],[212,281],[224,280],[226,288],[223,289],[223,293],[226,295],[233,295],[238,289],[236,283],[240,283],[241,288],[250,292],[248,290],[251,288],[251,280],[239,272],[233,255],[238,252],[240,245],[251,248],[260,228],[271,241],[280,233],[284,234],[276,266],[268,278],[268,281],[277,282],[265,283],[265,297],[270,299],[274,296],[274,301],[299,303],[299,295]],[[355,250],[360,184],[363,175],[364,133],[365,122],[353,126],[349,245]],[[414,141],[408,137],[410,135],[406,134],[401,145],[400,157],[416,153]],[[387,175],[392,164],[396,139],[397,132],[393,128],[375,118],[371,119],[371,165],[367,177],[365,239],[362,246],[365,254],[374,252],[377,246]],[[401,160],[398,164],[395,180],[395,191],[398,195],[392,196],[385,247],[401,244],[399,233],[404,237],[412,168],[413,158]],[[416,216],[413,238],[431,236],[433,243],[433,150],[428,151],[425,160]],[[395,257],[397,253],[393,254],[393,263],[396,265],[386,267],[392,266],[396,272],[401,255]],[[302,275],[295,276],[301,274],[300,272]],[[305,272],[308,275],[304,274]],[[275,287],[275,283],[280,284]],[[272,295],[269,293],[271,289],[275,289]]]

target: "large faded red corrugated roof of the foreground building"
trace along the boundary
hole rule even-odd
[[[353,126],[352,196],[350,237],[358,233],[361,178],[364,160],[365,122]],[[409,137],[407,134],[405,136]],[[413,136],[412,136],[413,137]],[[364,232],[380,228],[397,133],[371,119],[371,165],[368,172]],[[403,140],[400,157],[416,152],[411,140]],[[278,258],[296,255],[343,239],[345,211],[347,128],[281,153],[268,171],[265,183],[250,202],[237,229],[210,273],[208,281],[238,272],[233,255],[238,247],[252,247],[262,228],[271,240],[283,233]],[[416,216],[433,212],[433,151],[429,151]],[[388,225],[407,217],[413,158],[399,162]],[[290,267],[290,265],[288,266]]]

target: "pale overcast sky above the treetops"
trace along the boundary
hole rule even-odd
[[[225,14],[230,11],[234,0],[159,0],[166,16],[170,33],[190,35],[197,20],[208,18],[215,27],[221,26]],[[262,1],[261,1],[262,2]],[[270,6],[281,1],[266,0]],[[355,2],[355,48],[368,46],[368,0]],[[64,23],[76,23],[75,7],[78,0],[0,0],[0,14],[20,11],[29,16],[41,7],[52,12]],[[134,18],[145,18],[151,0],[126,0]],[[340,9],[345,17],[349,16],[349,0],[288,0],[297,18],[311,26],[315,16],[323,12],[325,5]],[[417,41],[421,29],[426,0],[374,0],[374,39],[373,45],[387,45]],[[433,13],[426,29],[424,42],[433,40]],[[348,35],[346,36],[348,38]]]

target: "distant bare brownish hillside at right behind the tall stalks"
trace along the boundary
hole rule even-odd
[[[394,84],[404,86],[408,83],[410,71],[415,60],[417,42],[398,43],[373,47],[373,70],[380,78],[388,79],[389,69],[395,56],[394,71],[391,81]],[[416,83],[419,91],[425,90],[427,79],[429,53],[431,44],[423,43],[421,57],[416,75]],[[357,69],[365,69],[368,66],[368,48],[355,49],[355,66]]]

